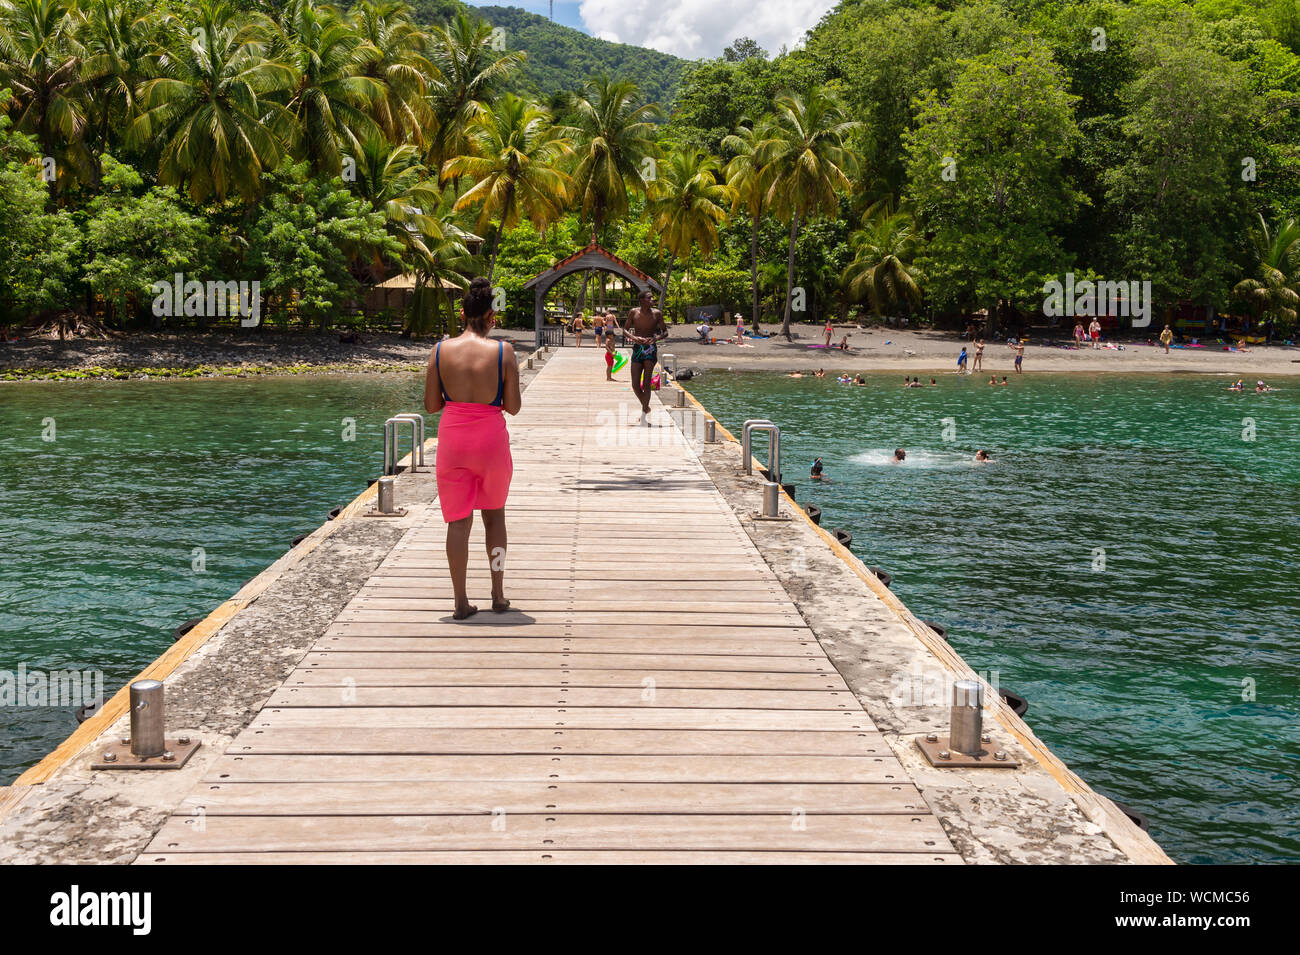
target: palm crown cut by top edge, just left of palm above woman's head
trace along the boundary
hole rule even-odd
[[[363,73],[384,84],[370,114],[394,143],[408,138],[426,146],[434,131],[433,109],[425,99],[442,82],[438,68],[424,55],[428,35],[411,21],[411,8],[398,0],[361,0],[351,9],[352,27],[376,49]]]

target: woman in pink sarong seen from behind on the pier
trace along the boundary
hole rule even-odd
[[[465,330],[434,347],[424,383],[425,409],[442,412],[436,472],[438,504],[447,522],[455,620],[478,612],[465,594],[474,511],[482,512],[488,538],[491,608],[497,613],[510,609],[504,594],[506,496],[515,464],[502,412],[517,414],[521,399],[515,350],[488,337],[494,325],[491,300],[488,279],[471,282],[460,309]]]

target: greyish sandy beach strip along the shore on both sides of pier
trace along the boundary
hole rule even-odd
[[[974,364],[974,346],[952,331],[916,331],[906,329],[836,326],[837,343],[849,333],[850,351],[809,347],[824,339],[822,326],[798,325],[792,329],[794,340],[776,337],[776,326],[763,326],[771,338],[745,339],[744,346],[732,338],[719,338],[716,344],[702,344],[694,326],[672,325],[660,353],[677,357],[679,368],[734,369],[764,372],[909,372],[918,376],[954,373],[962,346]],[[530,351],[530,329],[504,329],[493,333],[506,338],[520,351]],[[1138,372],[1138,373],[1202,373],[1254,379],[1300,374],[1300,347],[1253,346],[1245,351],[1225,351],[1222,344],[1204,348],[1174,348],[1165,353],[1161,346],[1123,342],[1121,348],[1066,350],[1039,339],[1024,348],[1024,373],[1043,372]],[[573,346],[572,334],[566,347]],[[584,348],[597,350],[590,331],[584,335]],[[70,339],[58,342],[23,338],[0,343],[0,378],[69,377],[174,377],[191,374],[303,374],[365,373],[415,370],[429,360],[433,342],[407,339],[396,334],[363,334],[355,344],[344,344],[338,335],[306,333],[229,334],[130,334],[108,340]],[[1014,352],[1005,342],[987,342],[983,370],[988,374],[1014,374]],[[95,369],[103,369],[99,373]],[[114,372],[109,374],[108,372]]]

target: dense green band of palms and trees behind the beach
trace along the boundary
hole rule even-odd
[[[0,0],[0,327],[455,334],[476,277],[528,327],[598,242],[692,322],[1292,339],[1300,0],[841,0],[671,84],[602,51],[454,0]]]

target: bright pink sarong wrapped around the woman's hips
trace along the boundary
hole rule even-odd
[[[506,507],[515,461],[498,405],[447,401],[438,421],[438,504],[447,524]]]

